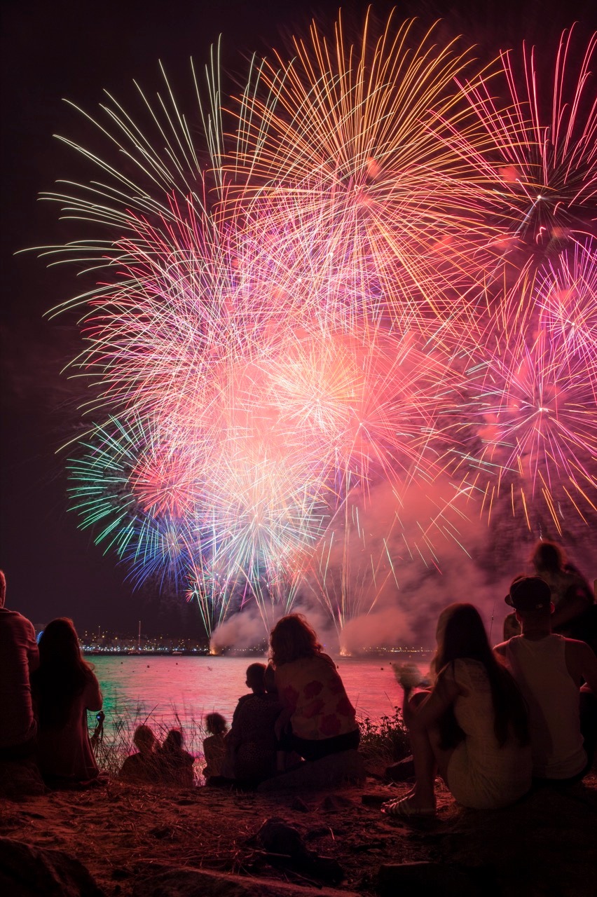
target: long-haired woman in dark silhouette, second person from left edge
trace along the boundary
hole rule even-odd
[[[39,718],[38,762],[50,783],[84,784],[99,775],[87,710],[101,710],[99,683],[81,654],[73,621],[58,617],[39,639],[39,668],[31,677]]]

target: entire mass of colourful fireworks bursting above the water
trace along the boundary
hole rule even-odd
[[[226,101],[214,52],[194,119],[165,74],[149,129],[108,97],[105,157],[66,141],[97,178],[47,195],[95,234],[45,250],[95,280],[55,309],[91,388],[74,508],[208,632],[306,595],[340,631],[471,508],[595,519],[594,39],[546,119],[526,50],[497,97],[435,28],[334,38]]]

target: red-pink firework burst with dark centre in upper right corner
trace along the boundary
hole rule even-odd
[[[557,249],[597,221],[597,35],[578,45],[574,27],[562,34],[550,84],[536,48],[523,45],[522,59],[502,54],[498,99],[493,79],[463,85],[480,132],[454,138],[487,187],[505,251]]]

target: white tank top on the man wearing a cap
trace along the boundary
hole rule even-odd
[[[515,636],[506,642],[506,665],[529,708],[532,774],[569,779],[586,765],[578,705],[580,691],[566,666],[566,639]]]

